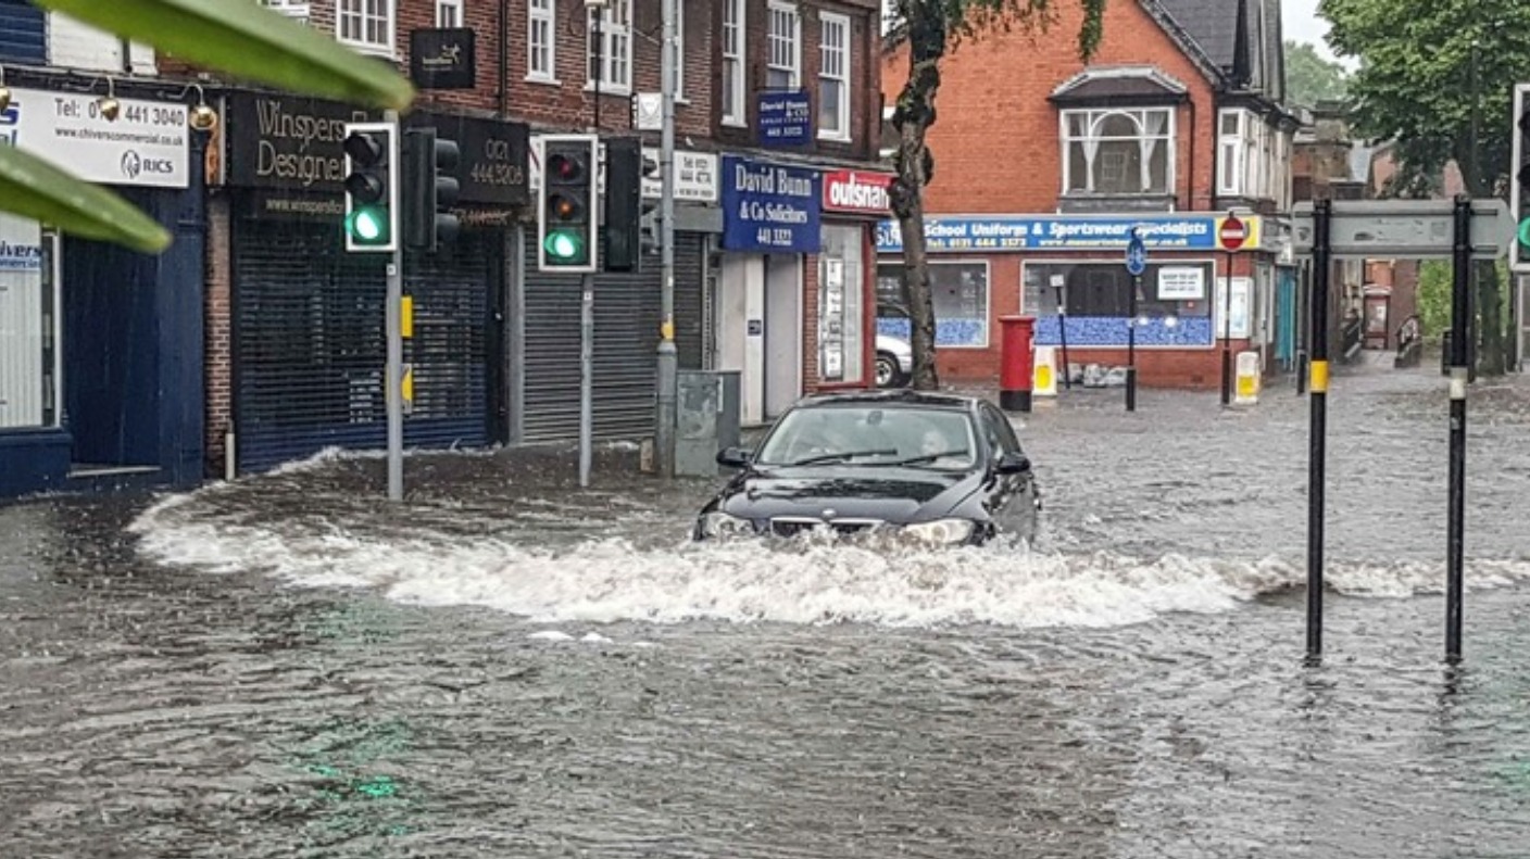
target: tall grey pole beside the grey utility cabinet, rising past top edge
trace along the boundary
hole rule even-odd
[[[658,414],[653,428],[653,459],[661,477],[675,477],[675,396],[679,356],[675,350],[675,3],[662,0],[664,47],[659,92],[664,102],[659,142],[659,287]]]

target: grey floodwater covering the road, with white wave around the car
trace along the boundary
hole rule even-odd
[[[685,544],[603,449],[323,459],[0,509],[14,856],[1524,856],[1530,385],[1473,388],[1467,665],[1440,662],[1438,376],[1307,404],[1074,391],[1034,550]]]

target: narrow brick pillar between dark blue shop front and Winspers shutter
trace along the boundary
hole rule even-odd
[[[223,437],[233,420],[233,255],[228,194],[207,200],[207,298],[203,303],[205,439],[208,477],[223,475]]]

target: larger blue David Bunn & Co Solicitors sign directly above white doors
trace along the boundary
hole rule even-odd
[[[722,156],[722,249],[817,254],[819,188],[817,170]]]

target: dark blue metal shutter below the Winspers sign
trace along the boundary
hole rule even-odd
[[[464,235],[467,238],[467,235]],[[459,258],[483,260],[462,248]],[[240,471],[326,446],[387,443],[384,267],[346,254],[330,225],[234,223],[234,411]],[[405,271],[405,277],[412,269]],[[407,446],[487,439],[487,287],[430,263],[415,295],[415,414]],[[474,310],[476,309],[476,310]]]

